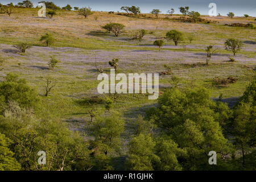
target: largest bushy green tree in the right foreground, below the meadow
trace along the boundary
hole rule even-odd
[[[192,88],[180,92],[173,88],[160,96],[158,104],[148,111],[148,116],[187,152],[183,156],[185,169],[200,169],[207,163],[209,151],[229,152],[217,119],[223,113],[215,109],[217,105],[210,99],[207,89]]]

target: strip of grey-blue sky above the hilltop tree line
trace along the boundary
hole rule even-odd
[[[23,0],[0,0],[0,3],[6,5],[13,2],[14,4]],[[34,6],[42,0],[32,0]],[[45,0],[51,1],[51,0]],[[189,6],[191,11],[199,11],[202,15],[208,15],[209,3],[216,3],[217,14],[226,15],[233,12],[237,16],[248,14],[256,16],[256,0],[52,0],[57,6],[63,7],[67,4],[72,7],[90,6],[94,11],[121,11],[121,6],[139,6],[142,13],[150,13],[152,9],[159,9],[162,13],[166,13],[171,8],[175,9],[175,13],[179,13],[180,6]]]

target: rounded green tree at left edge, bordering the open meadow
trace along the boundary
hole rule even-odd
[[[26,80],[8,73],[5,80],[0,82],[0,101],[1,107],[5,107],[10,101],[17,102],[21,107],[34,107],[38,96],[35,90],[27,85]]]

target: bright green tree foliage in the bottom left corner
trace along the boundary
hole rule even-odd
[[[10,150],[11,140],[0,133],[0,171],[18,171],[19,163],[13,158],[14,153]]]

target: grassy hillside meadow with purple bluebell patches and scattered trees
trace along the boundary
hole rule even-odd
[[[135,18],[107,12],[94,12],[84,18],[76,11],[57,11],[53,18],[38,18],[38,9],[16,9],[14,14],[0,14],[0,57],[4,59],[0,79],[7,73],[16,73],[25,78],[32,88],[39,93],[39,106],[35,109],[38,118],[51,118],[67,123],[72,131],[86,134],[85,140],[92,138],[86,127],[90,123],[92,98],[113,97],[98,94],[98,71],[95,67],[110,72],[109,61],[119,59],[119,73],[162,73],[164,65],[171,68],[172,74],[159,76],[160,94],[170,88],[170,80],[178,77],[179,87],[204,86],[211,91],[211,98],[217,100],[221,95],[222,102],[230,108],[245,92],[246,86],[255,76],[256,69],[256,30],[242,27],[224,26],[226,23],[255,23],[254,17],[243,18],[227,16],[209,17],[218,23],[184,23],[174,21],[161,14],[156,19],[147,14],[146,18]],[[97,16],[97,20],[96,17]],[[151,17],[151,18],[150,18]],[[122,23],[125,31],[118,37],[106,32],[102,26],[107,23]],[[134,31],[144,29],[147,34],[142,41],[133,39]],[[175,46],[165,39],[166,32],[179,30],[184,40]],[[40,37],[51,33],[55,42],[46,47],[39,41]],[[194,40],[190,43],[189,36]],[[229,61],[232,52],[225,50],[226,39],[236,38],[242,41],[243,47]],[[155,40],[164,40],[161,51],[153,46]],[[32,45],[25,53],[20,53],[13,45],[27,42]],[[209,65],[206,64],[205,48],[217,47]],[[60,63],[54,69],[48,68],[51,56]],[[51,77],[56,86],[44,96],[44,77]],[[216,85],[214,78],[236,78],[236,82],[227,85]],[[125,121],[125,130],[121,134],[121,150],[115,153],[116,169],[123,169],[123,158],[127,156],[127,143],[135,135],[134,122],[139,115],[145,116],[148,107],[154,107],[158,100],[148,100],[146,94],[121,94],[115,100],[112,111],[118,111]],[[106,112],[104,104],[97,104],[98,113]],[[123,157],[123,158],[122,158]],[[121,164],[120,164],[121,163]]]

